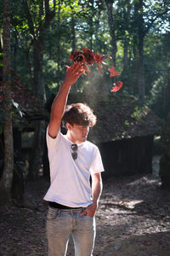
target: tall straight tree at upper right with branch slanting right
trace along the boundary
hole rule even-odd
[[[168,1],[165,0],[145,2],[144,0],[134,1],[134,23],[136,26],[135,38],[137,45],[137,68],[138,68],[138,89],[139,100],[144,103],[145,82],[144,82],[144,38],[156,21],[164,19],[164,15],[169,12]]]

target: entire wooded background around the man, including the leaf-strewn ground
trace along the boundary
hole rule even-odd
[[[45,132],[69,55],[82,48],[107,55],[68,99],[98,117],[88,137],[105,166],[94,255],[169,256],[169,15],[169,0],[0,1],[2,256],[47,255]]]

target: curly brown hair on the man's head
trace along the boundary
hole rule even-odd
[[[82,125],[93,127],[96,124],[94,110],[89,108],[86,103],[73,103],[65,107],[62,124]]]

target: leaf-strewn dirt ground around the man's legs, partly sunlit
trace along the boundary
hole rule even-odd
[[[42,201],[48,182],[26,184],[25,205],[0,209],[0,255],[48,255]],[[170,190],[157,173],[104,180],[94,256],[170,256]],[[73,256],[72,241],[67,256]]]

